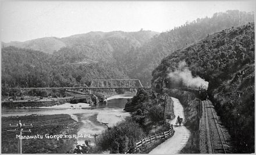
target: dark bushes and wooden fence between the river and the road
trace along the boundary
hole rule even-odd
[[[165,107],[164,107],[165,105]],[[125,107],[131,117],[99,135],[94,153],[148,153],[174,133],[166,118],[172,118],[172,100],[151,89],[139,89]],[[163,113],[165,110],[165,113]],[[137,149],[136,149],[137,146]]]

